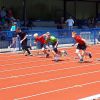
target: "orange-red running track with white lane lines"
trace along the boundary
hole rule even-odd
[[[75,60],[75,48],[52,58],[0,54],[0,100],[78,100],[100,93],[100,46],[88,48],[92,59]],[[34,52],[33,52],[34,53]],[[89,61],[87,61],[89,60]]]

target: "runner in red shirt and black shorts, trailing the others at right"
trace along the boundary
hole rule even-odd
[[[80,58],[80,62],[84,61],[83,58],[85,55],[88,55],[89,58],[92,58],[91,53],[86,52],[86,48],[87,48],[86,40],[81,38],[79,35],[77,35],[76,32],[72,32],[72,37],[75,39],[76,43],[78,44],[76,48],[76,54]],[[80,54],[80,50],[82,50],[82,54]]]

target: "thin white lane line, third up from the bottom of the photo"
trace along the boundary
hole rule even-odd
[[[65,67],[65,68],[59,68],[59,69],[55,69],[55,70],[42,71],[42,72],[30,73],[30,74],[21,74],[21,75],[9,76],[9,77],[0,77],[0,80],[11,79],[11,78],[19,78],[19,77],[25,77],[25,76],[31,76],[31,75],[38,75],[38,74],[44,74],[44,73],[51,73],[51,72],[56,72],[56,71],[77,69],[77,68],[86,68],[88,66],[91,67],[91,66],[98,65],[98,64],[100,64],[100,63],[83,65],[83,66],[76,66],[76,67],[67,67],[67,68]]]

